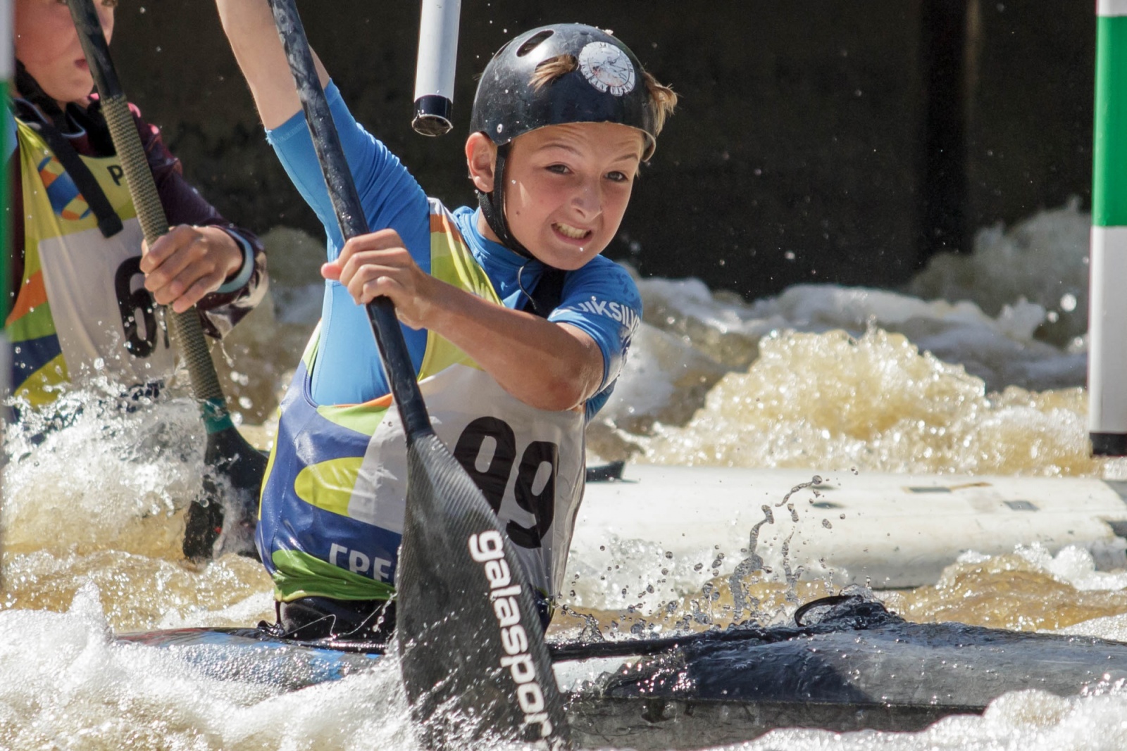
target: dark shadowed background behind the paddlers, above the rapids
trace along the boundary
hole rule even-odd
[[[969,250],[974,229],[1090,203],[1091,2],[463,0],[455,132],[442,138],[409,125],[418,2],[299,7],[358,119],[451,206],[473,199],[462,144],[491,53],[545,23],[613,30],[682,97],[606,251],[647,276],[746,297],[800,281],[895,287],[937,249]],[[113,51],[130,98],[224,214],[321,235],[265,143],[214,6],[124,0]],[[964,234],[932,226],[950,217]]]

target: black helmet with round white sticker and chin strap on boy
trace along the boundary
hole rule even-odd
[[[570,55],[575,70],[542,87],[533,83],[540,63]],[[473,97],[470,133],[482,132],[497,144],[494,189],[478,193],[489,227],[502,242],[532,257],[508,229],[504,215],[504,172],[508,144],[518,135],[545,125],[621,123],[646,136],[642,159],[657,145],[654,108],[642,68],[616,38],[584,24],[541,26],[512,39],[486,65]]]

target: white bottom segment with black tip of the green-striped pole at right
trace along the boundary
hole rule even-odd
[[[1091,292],[1089,310],[1088,388],[1089,430],[1102,440],[1127,442],[1127,227],[1092,227]],[[1109,438],[1119,436],[1118,440]],[[1092,436],[1093,445],[1101,439]],[[1117,450],[1098,454],[1120,455]],[[1107,448],[1115,448],[1108,446]]]

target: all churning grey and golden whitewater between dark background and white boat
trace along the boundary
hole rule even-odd
[[[979,233],[974,256],[937,257],[908,285],[934,299],[798,285],[746,303],[641,279],[645,323],[591,446],[668,464],[1122,473],[1088,457],[1088,222],[1071,204]]]

